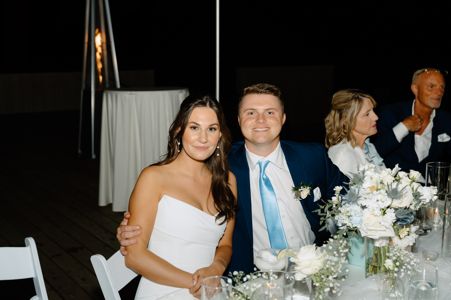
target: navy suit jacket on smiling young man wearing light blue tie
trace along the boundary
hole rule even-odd
[[[312,193],[300,204],[304,208],[313,233],[316,236],[317,245],[322,245],[330,237],[327,230],[319,231],[323,226],[319,224],[320,216],[312,213],[323,204],[321,200],[313,202],[313,189],[319,187],[322,199],[331,199],[335,195],[333,189],[337,185],[343,185],[348,181],[337,166],[327,156],[324,146],[318,143],[295,143],[281,141],[282,151],[285,155],[291,178],[295,186],[312,183]],[[235,230],[233,233],[233,254],[228,270],[254,272],[253,264],[253,233],[252,233],[252,208],[249,182],[249,165],[244,149],[244,142],[235,143],[229,155],[230,171],[236,176],[238,186],[238,210],[235,218]]]

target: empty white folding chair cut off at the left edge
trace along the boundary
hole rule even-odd
[[[33,278],[36,296],[30,300],[48,300],[36,243],[25,239],[25,247],[0,247],[0,280]]]

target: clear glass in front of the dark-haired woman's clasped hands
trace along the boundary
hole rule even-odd
[[[225,276],[212,276],[202,280],[201,300],[227,300],[232,297],[232,280]]]

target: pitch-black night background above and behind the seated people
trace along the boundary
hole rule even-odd
[[[285,139],[298,140],[301,124],[303,132],[313,126],[312,140],[321,142],[324,130],[317,127],[340,89],[362,89],[379,104],[413,99],[410,80],[416,69],[451,69],[447,8],[222,1],[220,101],[234,139],[241,139],[235,121],[239,90],[258,81],[281,87],[288,107],[296,108],[287,111],[287,120],[297,121],[295,127],[285,126]],[[3,4],[0,73],[81,72],[84,11],[84,1]],[[120,71],[154,70],[156,86],[214,93],[214,0],[112,0],[110,11]],[[317,76],[324,66],[332,76]],[[299,67],[307,74],[291,76]],[[267,68],[271,76],[260,72],[246,81],[249,72],[240,75],[239,70],[259,73],[258,68]],[[322,86],[328,87],[326,94]],[[322,111],[313,113],[314,119],[299,118],[318,102],[314,95],[320,92],[325,95]],[[449,110],[446,98],[442,107]]]

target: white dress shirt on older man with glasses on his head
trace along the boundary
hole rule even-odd
[[[412,116],[415,114],[414,112],[415,100],[412,104]],[[431,148],[432,144],[432,127],[434,126],[433,119],[435,117],[435,109],[433,110],[431,117],[429,119],[429,124],[426,126],[426,129],[422,134],[414,134],[415,136],[415,152],[417,153],[418,161],[422,161],[425,157],[429,155],[429,148]],[[408,134],[409,130],[402,122],[399,122],[398,125],[393,127],[393,132],[395,133],[396,139],[401,143],[402,139],[404,139]],[[408,170],[405,170],[408,171]],[[418,171],[418,170],[417,170]],[[419,182],[425,182],[423,175],[418,180]]]

